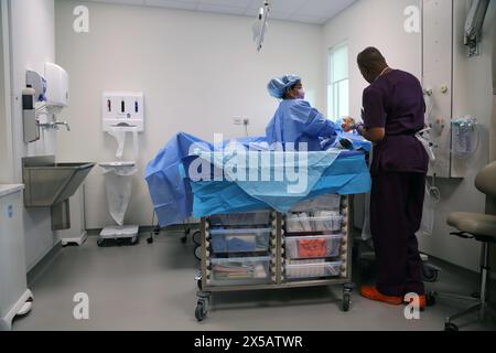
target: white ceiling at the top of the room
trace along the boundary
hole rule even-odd
[[[88,0],[256,17],[263,0]],[[271,0],[271,18],[325,23],[356,0]]]

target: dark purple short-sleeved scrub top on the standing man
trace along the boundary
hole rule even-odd
[[[393,69],[364,90],[366,128],[385,128],[384,140],[374,146],[370,172],[427,173],[429,156],[414,137],[424,128],[425,101],[413,75]]]

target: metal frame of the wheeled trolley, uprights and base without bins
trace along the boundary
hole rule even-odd
[[[281,213],[272,213],[272,235],[270,239],[270,284],[262,285],[212,285],[211,282],[211,250],[209,239],[207,238],[208,218],[204,217],[201,221],[201,237],[202,237],[202,256],[201,256],[201,275],[196,277],[198,285],[198,301],[195,310],[195,317],[198,321],[205,320],[208,313],[211,297],[214,292],[227,291],[249,291],[249,290],[268,290],[268,289],[288,289],[302,287],[324,287],[324,286],[343,286],[343,311],[348,311],[352,302],[352,291],[354,285],[352,282],[352,250],[353,250],[353,235],[352,224],[353,220],[353,195],[341,196],[341,214],[344,216],[342,225],[343,240],[341,244],[341,260],[342,270],[339,277],[325,279],[303,279],[291,280],[284,279],[284,215]]]

